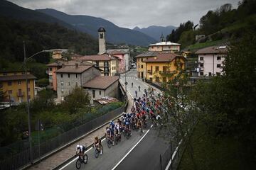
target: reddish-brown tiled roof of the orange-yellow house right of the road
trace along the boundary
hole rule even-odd
[[[156,57],[150,57],[144,62],[171,62],[176,57],[182,57],[181,55],[176,55],[174,53],[159,53]],[[184,58],[184,57],[182,57]]]

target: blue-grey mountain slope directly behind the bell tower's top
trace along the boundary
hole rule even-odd
[[[72,16],[66,13],[56,11],[54,9],[38,9],[41,13],[46,13],[49,16],[58,18],[61,21],[69,23],[74,26],[77,30],[84,33],[88,33],[93,37],[97,38],[97,29],[104,27],[107,31],[106,38],[107,42],[112,43],[127,43],[131,45],[149,45],[152,42],[156,42],[154,38],[145,35],[136,30],[131,30],[128,28],[120,28],[114,23],[107,21],[102,18],[96,18],[93,16]]]

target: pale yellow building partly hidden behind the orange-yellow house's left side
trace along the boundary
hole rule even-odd
[[[144,62],[144,60],[147,60],[151,57],[156,57],[156,55],[158,55],[159,52],[144,52],[141,55],[137,55],[136,59],[137,59],[137,77],[139,79],[145,79],[146,76],[146,63]]]

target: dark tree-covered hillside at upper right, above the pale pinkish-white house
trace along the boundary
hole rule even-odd
[[[236,9],[231,4],[224,4],[214,11],[208,11],[196,26],[191,21],[181,23],[167,35],[166,40],[181,43],[181,48],[184,49],[196,43],[196,35],[206,35],[198,43],[222,43],[229,39],[241,38],[248,30],[256,28],[255,8],[255,0],[240,1]]]

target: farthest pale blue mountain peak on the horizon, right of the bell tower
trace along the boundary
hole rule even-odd
[[[163,33],[164,38],[166,38],[166,35],[169,35],[171,33],[171,30],[176,29],[175,26],[149,26],[148,28],[139,28],[135,27],[133,30],[137,30],[141,33],[144,33],[146,35],[151,36],[151,38],[154,38],[155,40],[160,40],[160,36]]]

